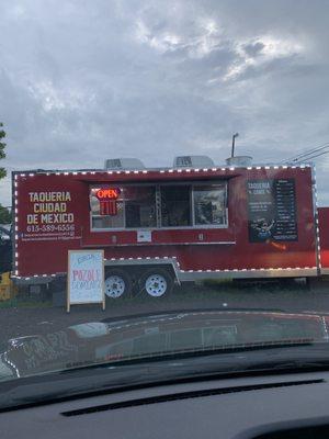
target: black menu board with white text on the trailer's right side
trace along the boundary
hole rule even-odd
[[[248,180],[250,243],[298,240],[294,179]]]

